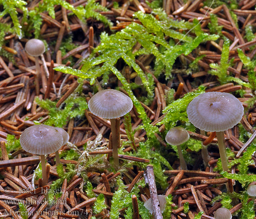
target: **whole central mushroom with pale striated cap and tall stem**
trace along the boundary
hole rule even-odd
[[[119,166],[118,160],[118,141],[120,136],[117,134],[117,130],[120,128],[120,123],[116,122],[117,118],[127,114],[132,109],[132,100],[124,93],[114,90],[107,89],[99,91],[88,103],[89,110],[96,116],[110,119],[111,132],[112,132],[112,144],[113,144],[113,159],[114,166]],[[119,120],[118,120],[119,121]],[[118,135],[118,136],[117,136]]]

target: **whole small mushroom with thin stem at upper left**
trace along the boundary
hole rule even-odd
[[[39,95],[39,74],[40,74],[40,66],[38,61],[38,56],[42,55],[45,52],[44,42],[40,39],[30,39],[26,42],[25,50],[27,54],[35,57],[35,68],[37,69],[37,73],[35,74],[35,93]]]

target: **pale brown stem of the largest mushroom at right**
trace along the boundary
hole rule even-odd
[[[223,171],[229,171],[229,168],[227,166],[227,154],[226,154],[226,146],[224,143],[224,131],[217,131],[216,136],[218,139],[218,145],[219,145],[219,155],[221,157],[221,164],[222,164],[222,170]],[[227,191],[231,192],[228,186],[228,183],[226,183]],[[233,186],[232,186],[233,187]]]

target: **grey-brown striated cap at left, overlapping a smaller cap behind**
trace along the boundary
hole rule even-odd
[[[31,154],[50,154],[63,145],[63,137],[59,130],[44,124],[30,126],[20,135],[21,147]]]

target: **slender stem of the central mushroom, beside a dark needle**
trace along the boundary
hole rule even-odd
[[[118,148],[120,143],[120,118],[110,119],[111,123],[111,132],[112,132],[112,147],[113,147],[113,159],[114,159],[114,168],[118,168],[119,159],[118,159]]]

